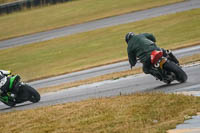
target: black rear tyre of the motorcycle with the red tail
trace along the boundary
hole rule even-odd
[[[163,67],[165,70],[173,72],[176,75],[176,80],[180,83],[186,82],[187,74],[174,62],[168,60]]]

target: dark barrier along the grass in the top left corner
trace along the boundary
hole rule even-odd
[[[45,6],[48,4],[62,3],[72,0],[20,0],[0,5],[0,14],[8,14],[22,9]]]

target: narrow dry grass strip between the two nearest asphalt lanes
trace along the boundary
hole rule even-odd
[[[184,64],[189,64],[189,63],[198,62],[198,61],[200,61],[200,54],[195,54],[193,56],[181,58],[180,64],[184,65]],[[97,76],[94,78],[79,80],[79,81],[70,82],[70,83],[64,83],[64,84],[60,84],[58,86],[39,88],[38,91],[40,92],[40,94],[44,94],[47,92],[55,92],[55,91],[59,91],[59,90],[67,89],[67,88],[72,88],[72,87],[76,87],[76,86],[80,86],[80,85],[84,85],[84,84],[91,84],[91,83],[100,82],[100,81],[104,81],[104,80],[116,80],[121,77],[135,75],[135,74],[139,74],[142,72],[143,72],[142,68],[136,68],[133,70],[115,72],[115,73],[111,73],[111,74]]]

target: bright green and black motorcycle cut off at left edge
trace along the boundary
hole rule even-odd
[[[36,103],[40,101],[40,94],[26,83],[20,82],[18,75],[6,77],[8,79],[8,91],[0,94],[0,101],[10,107],[26,101]]]

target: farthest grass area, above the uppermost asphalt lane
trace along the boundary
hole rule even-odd
[[[0,16],[0,40],[183,0],[73,0]]]

